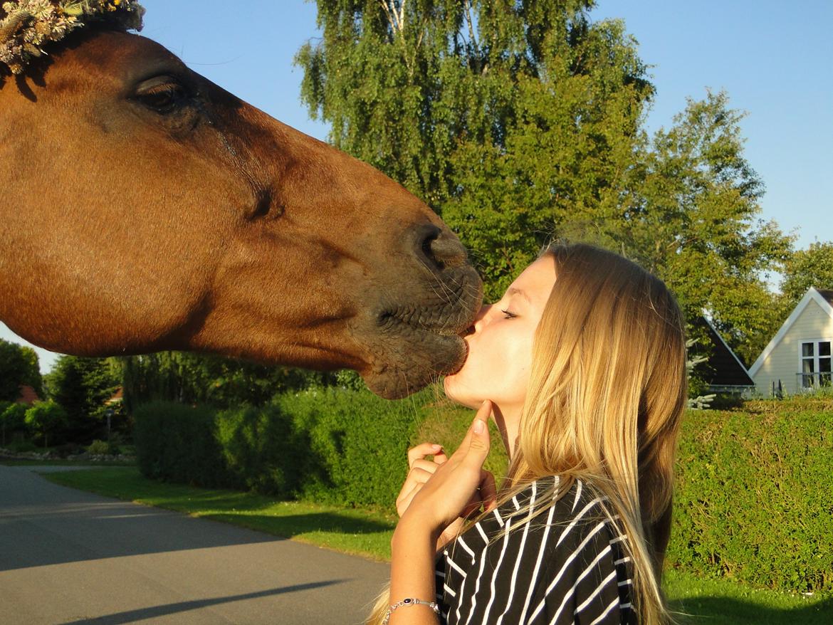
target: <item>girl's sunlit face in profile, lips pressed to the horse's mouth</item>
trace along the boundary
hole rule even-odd
[[[490,399],[501,410],[520,410],[532,362],[532,340],[552,285],[550,254],[527,267],[497,303],[484,306],[466,337],[466,363],[445,380],[446,395],[469,408]]]

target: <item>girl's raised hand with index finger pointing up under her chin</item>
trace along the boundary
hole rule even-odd
[[[495,506],[495,479],[483,470],[489,453],[489,430],[486,425],[489,415],[491,402],[486,401],[477,411],[460,448],[441,463],[430,463],[419,457],[427,448],[414,448],[414,477],[407,493],[401,493],[397,499],[397,509],[402,508],[402,522],[416,522],[439,536],[458,517],[471,513],[481,503],[486,509]],[[418,471],[414,472],[414,468]],[[409,485],[408,480],[406,485]]]

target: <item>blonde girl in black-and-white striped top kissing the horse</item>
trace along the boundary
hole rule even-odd
[[[370,622],[667,622],[686,350],[666,286],[614,253],[554,245],[466,342],[445,388],[476,417],[450,458],[431,443],[409,452],[391,584]],[[490,417],[510,457],[497,492],[482,469]]]

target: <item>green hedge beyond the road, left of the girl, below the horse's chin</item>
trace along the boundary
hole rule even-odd
[[[425,404],[425,395],[389,402],[340,388],[222,412],[145,404],[133,415],[137,462],[169,482],[390,508]]]

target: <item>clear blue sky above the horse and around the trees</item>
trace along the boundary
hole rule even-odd
[[[299,101],[298,47],[317,37],[316,6],[301,0],[143,0],[146,37],[282,122],[326,139]],[[233,7],[233,8],[232,8]],[[668,126],[706,88],[746,111],[746,158],[766,184],[761,218],[833,240],[833,2],[602,1],[596,19],[622,18],[651,65],[649,129]],[[0,324],[0,337],[18,340]],[[22,342],[22,341],[21,341]],[[39,350],[41,368],[51,354]]]

